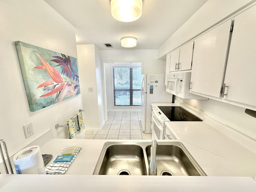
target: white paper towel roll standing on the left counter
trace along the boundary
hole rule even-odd
[[[44,160],[39,146],[20,150],[14,155],[13,162],[17,174],[45,174]]]

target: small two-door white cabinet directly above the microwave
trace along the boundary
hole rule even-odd
[[[170,55],[170,72],[190,70],[192,65],[194,41],[182,46],[171,52]]]

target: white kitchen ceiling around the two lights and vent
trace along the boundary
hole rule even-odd
[[[77,44],[100,50],[158,49],[207,0],[143,0],[142,16],[120,22],[111,16],[110,0],[44,0],[76,28]],[[122,48],[121,38],[137,38],[134,48]],[[106,48],[105,43],[113,48]]]

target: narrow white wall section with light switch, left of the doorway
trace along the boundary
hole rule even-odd
[[[77,54],[85,128],[99,130],[104,124],[100,50],[92,44],[77,45]]]

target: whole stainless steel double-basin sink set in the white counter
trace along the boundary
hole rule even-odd
[[[148,175],[151,142],[106,142],[94,175]],[[158,142],[157,175],[206,176],[181,142]]]

